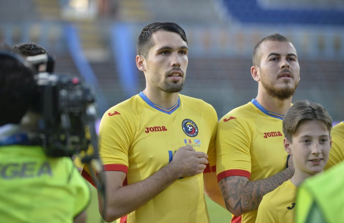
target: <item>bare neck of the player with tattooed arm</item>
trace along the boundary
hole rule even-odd
[[[265,108],[268,111],[281,114],[281,115],[284,115],[287,112],[287,110],[290,108],[291,99],[292,97],[281,100],[281,99],[270,96],[268,93],[259,93],[259,92],[256,97],[256,101],[258,101],[258,103],[261,104],[263,108]]]

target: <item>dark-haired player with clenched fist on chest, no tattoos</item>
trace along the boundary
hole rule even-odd
[[[146,88],[110,108],[100,123],[107,206],[101,200],[99,206],[106,221],[209,222],[204,185],[224,205],[215,173],[216,112],[179,94],[187,53],[178,24],[157,22],[141,31],[136,65]],[[89,179],[87,169],[82,174]]]

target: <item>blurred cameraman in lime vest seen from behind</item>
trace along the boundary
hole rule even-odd
[[[37,100],[34,70],[0,49],[2,222],[86,222],[89,188],[69,157],[47,157],[20,126]]]

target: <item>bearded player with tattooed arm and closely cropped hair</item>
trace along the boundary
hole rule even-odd
[[[232,222],[254,222],[262,197],[294,173],[286,169],[282,119],[300,80],[297,52],[273,34],[256,44],[252,59],[257,97],[223,116],[216,137],[217,180]]]

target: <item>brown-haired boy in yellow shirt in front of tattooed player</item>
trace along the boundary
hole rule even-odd
[[[323,172],[331,149],[332,119],[318,103],[297,101],[283,119],[284,149],[293,158],[295,173],[290,180],[265,194],[256,223],[292,223],[296,193],[308,177]]]

